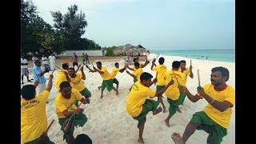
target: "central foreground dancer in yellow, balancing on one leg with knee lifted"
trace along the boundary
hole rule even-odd
[[[156,82],[156,78],[154,78],[153,82],[151,81],[151,78],[153,78],[151,74],[146,72],[142,73],[140,81],[135,82],[131,87],[130,94],[126,100],[127,113],[130,114],[132,118],[138,120],[138,142],[142,143],[144,143],[142,134],[146,122],[146,114],[152,111],[153,115],[155,115],[162,111],[162,107],[158,107],[159,102],[148,98],[154,98],[162,95],[170,85],[174,84],[174,81],[170,81],[162,90],[156,92],[149,88]]]

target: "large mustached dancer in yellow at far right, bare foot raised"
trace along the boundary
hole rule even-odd
[[[221,143],[222,138],[227,134],[230,125],[232,107],[235,102],[235,90],[227,86],[226,81],[230,78],[230,72],[225,67],[218,66],[211,70],[211,84],[198,86],[198,94],[190,94],[186,86],[180,86],[180,90],[187,94],[191,102],[198,102],[205,98],[207,106],[200,112],[193,114],[190,123],[186,126],[182,138],[175,133],[179,142],[185,143],[195,130],[204,130],[209,134],[207,143]]]

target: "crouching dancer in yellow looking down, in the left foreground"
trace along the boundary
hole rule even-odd
[[[83,109],[75,106],[74,102],[76,100],[82,102],[83,104],[90,103],[90,98],[83,98],[82,94],[78,90],[72,89],[70,82],[64,81],[60,85],[60,92],[55,98],[55,113],[58,116],[58,123],[62,126],[67,118],[72,120],[70,127],[70,133],[74,133],[74,126],[84,126],[87,122],[86,114],[83,114]],[[76,110],[75,114],[74,111]],[[73,115],[74,114],[74,115]],[[73,115],[73,116],[72,116]],[[64,134],[63,138],[66,138]]]

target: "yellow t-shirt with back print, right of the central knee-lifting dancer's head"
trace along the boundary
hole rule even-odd
[[[178,79],[178,82],[177,82],[176,78],[174,77],[174,74],[175,74],[176,78]],[[177,100],[179,98],[180,91],[178,90],[178,83],[181,86],[185,86],[185,77],[186,77],[185,74],[183,74],[182,72],[179,72],[179,71],[175,71],[175,70],[167,70],[166,71],[166,74],[164,74],[164,78],[166,78],[166,84],[168,82],[170,82],[171,79],[174,80],[174,84],[170,85],[165,92],[167,98],[170,98],[172,100]]]

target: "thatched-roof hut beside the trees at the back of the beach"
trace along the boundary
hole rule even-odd
[[[126,55],[146,55],[146,53],[148,53],[149,50],[146,50],[146,48],[144,48],[141,45],[138,46],[132,46],[131,44],[126,44],[123,46],[118,46],[118,48],[116,48],[114,50],[114,54],[126,54]]]

